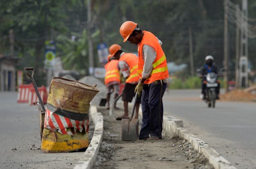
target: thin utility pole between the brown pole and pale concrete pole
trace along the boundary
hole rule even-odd
[[[239,88],[239,22],[241,23],[241,18],[239,17],[239,5],[236,5],[236,33],[235,33],[235,87]]]

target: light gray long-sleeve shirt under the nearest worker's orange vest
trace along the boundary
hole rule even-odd
[[[158,39],[158,43],[160,46],[162,46],[162,41]],[[154,48],[152,48],[149,45],[143,45],[142,48],[142,59],[144,60],[144,66],[143,66],[143,71],[142,71],[142,78],[147,79],[151,75],[151,71],[153,69],[153,62],[155,61],[156,58],[156,51]],[[168,82],[168,78],[163,80],[165,83]]]

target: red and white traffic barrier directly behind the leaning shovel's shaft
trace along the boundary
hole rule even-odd
[[[38,87],[38,92],[42,98],[43,104],[46,104],[47,98],[48,98],[46,87],[44,87],[43,85],[41,87]],[[33,87],[31,87],[29,89],[28,104],[34,105],[37,103],[37,101],[39,101],[37,98],[37,93],[36,93],[35,89]]]

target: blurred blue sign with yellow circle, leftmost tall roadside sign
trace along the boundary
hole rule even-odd
[[[46,69],[54,69],[55,65],[55,41],[46,41],[45,42],[45,61],[44,66]]]

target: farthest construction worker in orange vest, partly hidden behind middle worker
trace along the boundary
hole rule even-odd
[[[120,73],[118,70],[118,60],[108,55],[107,64],[105,64],[105,85],[107,87],[107,109],[110,109],[110,95],[114,91],[114,98],[119,94]],[[115,103],[114,103],[115,104]],[[114,105],[115,108],[116,104]]]

